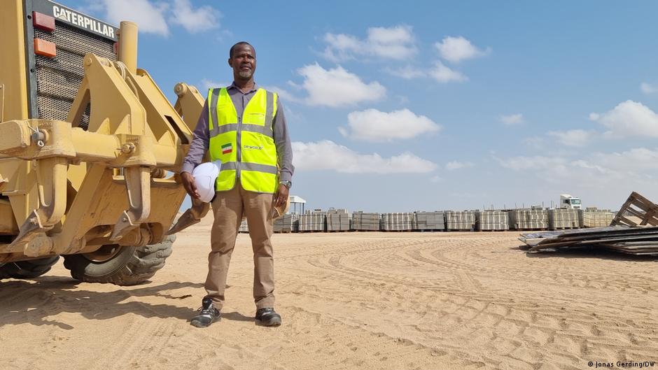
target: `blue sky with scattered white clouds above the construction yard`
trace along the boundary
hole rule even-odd
[[[171,101],[230,83],[228,49],[252,43],[307,209],[658,201],[654,1],[59,2],[137,22]]]

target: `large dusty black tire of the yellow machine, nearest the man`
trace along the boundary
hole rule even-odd
[[[165,259],[172,255],[172,244],[176,236],[171,235],[162,243],[144,247],[123,247],[111,259],[94,262],[85,255],[64,256],[64,267],[71,276],[86,283],[112,283],[137,285],[146,282],[155,272],[165,266]]]

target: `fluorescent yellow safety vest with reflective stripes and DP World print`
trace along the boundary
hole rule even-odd
[[[215,184],[218,192],[231,190],[236,177],[244,190],[276,192],[279,169],[272,122],[278,98],[258,89],[238,117],[225,87],[208,91],[210,158],[222,161]]]

